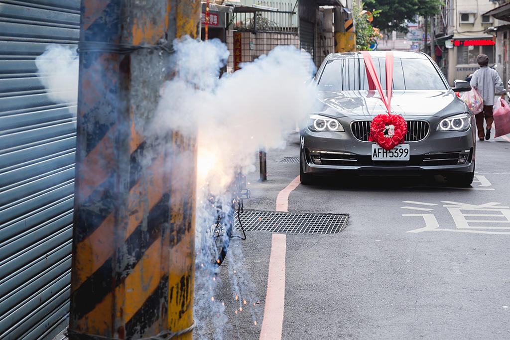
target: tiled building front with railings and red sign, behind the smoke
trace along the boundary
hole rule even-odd
[[[206,3],[202,3],[201,36],[205,39],[208,22],[208,39],[218,38],[227,45],[230,57],[225,72],[234,72],[240,63],[266,55],[278,45],[293,45],[306,51],[319,67],[335,51],[335,8],[350,13],[352,6],[352,0],[340,3],[335,0],[216,0],[210,3],[209,13]],[[348,14],[345,19],[349,20]],[[341,27],[344,25],[342,22]]]

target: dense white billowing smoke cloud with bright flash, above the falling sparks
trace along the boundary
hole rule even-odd
[[[159,128],[198,134],[198,182],[221,193],[238,169],[254,169],[254,154],[285,145],[314,98],[308,54],[277,46],[267,56],[217,79],[227,57],[219,40],[174,42],[178,75],[161,91]],[[303,58],[303,54],[304,58]]]

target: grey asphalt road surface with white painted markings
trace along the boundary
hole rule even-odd
[[[278,193],[299,174],[298,164],[279,162],[298,155],[297,143],[293,134],[284,150],[268,153],[267,182],[248,176],[248,209],[275,210]],[[510,338],[509,155],[504,139],[478,143],[470,189],[441,177],[299,185],[289,212],[349,214],[349,221],[336,234],[287,234],[282,338]],[[195,292],[196,338],[259,338],[270,252],[268,232],[233,240],[211,293]],[[208,294],[215,301],[204,305]],[[221,306],[218,313],[211,305]]]

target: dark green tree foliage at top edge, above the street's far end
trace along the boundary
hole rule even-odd
[[[380,10],[372,24],[386,32],[406,33],[405,20],[413,21],[417,15],[436,15],[443,5],[441,0],[365,0],[367,10]]]

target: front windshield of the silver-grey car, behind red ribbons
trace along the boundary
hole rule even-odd
[[[386,66],[384,58],[373,58],[377,76],[386,90]],[[369,90],[363,58],[331,59],[320,76],[320,91]],[[395,58],[393,66],[394,90],[444,90],[436,68],[428,59]]]

